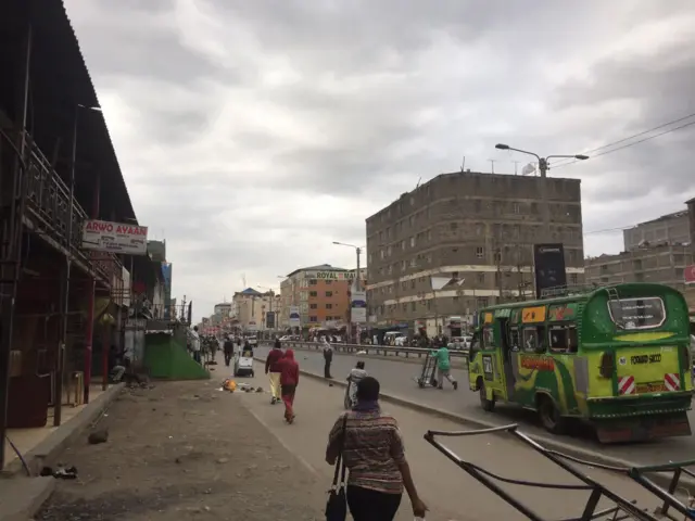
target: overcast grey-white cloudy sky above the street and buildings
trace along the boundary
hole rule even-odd
[[[65,0],[140,223],[195,316],[427,180],[513,174],[695,113],[692,0]],[[695,125],[566,165],[586,253],[695,196]],[[614,147],[616,148],[616,147]],[[690,161],[688,161],[690,160]],[[514,162],[520,162],[515,165]]]

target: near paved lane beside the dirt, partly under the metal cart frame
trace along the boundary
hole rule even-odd
[[[250,379],[249,382],[267,387],[260,365],[256,378]],[[332,467],[324,461],[326,440],[334,419],[342,411],[343,387],[330,387],[309,378],[301,379],[295,401],[296,421],[292,425],[283,423],[282,406],[270,405],[267,393],[235,393],[232,396],[249,407],[291,453],[314,469],[328,487],[332,479]],[[399,420],[416,486],[431,509],[427,516],[428,521],[527,519],[496,498],[422,439],[428,429],[460,430],[460,424],[392,404],[384,405],[384,409]],[[574,478],[510,435],[448,440],[446,445],[460,457],[504,476],[555,484],[578,483]],[[653,497],[626,478],[608,475],[595,469],[586,469],[585,472],[626,498],[639,497],[640,506],[656,506]],[[536,508],[546,519],[578,517],[587,497],[585,492],[563,491],[558,494],[547,490],[504,486],[510,494],[519,499],[523,498],[527,505]],[[403,499],[396,520],[413,521],[407,498]]]

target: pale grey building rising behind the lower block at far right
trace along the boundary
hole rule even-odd
[[[655,244],[686,244],[691,242],[687,209],[662,215],[622,230],[624,251]]]

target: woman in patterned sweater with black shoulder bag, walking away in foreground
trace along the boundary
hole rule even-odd
[[[342,445],[348,476],[348,507],[354,521],[392,521],[405,487],[415,517],[425,517],[405,458],[399,424],[379,406],[379,381],[365,377],[357,384],[357,405],[340,415],[328,435],[326,461],[336,465]],[[344,429],[343,429],[344,425]]]

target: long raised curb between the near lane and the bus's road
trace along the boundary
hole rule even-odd
[[[261,361],[263,364],[265,364],[265,359],[263,358],[258,358],[258,357],[254,357],[257,361]],[[300,373],[312,378],[314,380],[320,380],[323,382],[326,382],[326,378],[324,378],[320,374],[316,374],[315,372],[309,372],[306,371],[304,369],[300,369]],[[329,380],[329,383],[332,383],[333,385],[339,385],[341,387],[346,387],[348,383],[346,382],[341,382],[339,380]],[[390,393],[380,393],[380,399],[382,399],[383,402],[387,403],[391,403],[394,405],[399,405],[401,407],[407,407],[409,409],[413,410],[417,410],[418,412],[424,412],[426,415],[431,415],[431,416],[435,416],[439,418],[443,418],[445,420],[450,420],[456,423],[462,423],[464,425],[469,425],[475,429],[491,429],[491,428],[495,428],[495,427],[501,427],[500,423],[495,423],[492,421],[484,421],[484,420],[480,420],[478,418],[470,418],[464,415],[459,415],[456,412],[451,412],[448,410],[443,410],[443,409],[438,409],[434,407],[431,407],[429,405],[425,405],[412,399],[406,399],[403,398],[401,396],[396,396],[394,394],[390,394]],[[500,433],[500,434],[494,434],[494,435],[504,435],[504,433]],[[622,458],[616,458],[612,456],[606,456],[604,454],[601,454],[598,452],[594,452],[594,450],[590,450],[586,448],[582,448],[582,447],[577,447],[576,445],[572,445],[571,443],[567,443],[567,442],[561,442],[558,440],[554,440],[549,436],[543,436],[543,435],[538,435],[538,434],[528,434],[527,435],[529,437],[531,437],[534,442],[543,445],[543,447],[545,447],[546,449],[549,450],[555,450],[558,453],[561,453],[564,455],[577,458],[577,459],[581,459],[586,461],[587,463],[598,463],[598,465],[605,465],[605,466],[609,466],[609,467],[621,467],[624,468],[626,471],[628,469],[631,469],[633,467],[643,467],[644,463],[639,463],[635,461],[629,461]],[[584,466],[579,466],[584,467]],[[659,472],[654,472],[654,473],[649,473],[649,479],[652,481],[654,481],[654,483],[658,484],[661,487],[668,487],[670,482],[671,482],[671,478],[672,478],[672,473],[659,473]],[[636,484],[636,482],[635,482]],[[695,480],[690,479],[686,475],[682,475],[681,480],[679,482],[679,488],[685,488],[691,494],[695,494]]]

